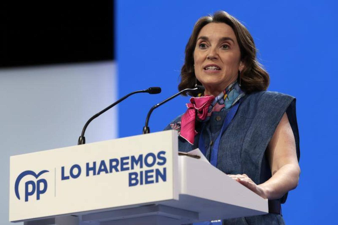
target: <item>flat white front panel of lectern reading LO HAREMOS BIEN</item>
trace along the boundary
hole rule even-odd
[[[9,220],[178,200],[177,160],[176,131],[11,156]]]

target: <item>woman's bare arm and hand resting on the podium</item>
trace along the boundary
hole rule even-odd
[[[278,124],[267,148],[272,177],[255,184],[246,174],[229,175],[267,199],[279,199],[298,185],[300,168],[293,132],[286,113]]]

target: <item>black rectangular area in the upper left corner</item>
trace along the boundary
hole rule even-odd
[[[0,67],[114,59],[113,1],[17,1],[0,10]]]

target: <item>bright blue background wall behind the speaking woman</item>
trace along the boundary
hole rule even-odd
[[[161,86],[119,105],[119,136],[142,132],[149,108],[177,92],[184,48],[201,16],[225,10],[243,21],[271,77],[270,91],[297,98],[301,177],[283,205],[287,224],[333,224],[336,219],[337,3],[334,1],[116,2],[118,92]],[[156,109],[152,132],[185,111],[187,97]]]

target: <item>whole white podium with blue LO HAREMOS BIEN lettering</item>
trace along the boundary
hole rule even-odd
[[[10,157],[9,221],[186,224],[268,213],[268,201],[162,131]]]

